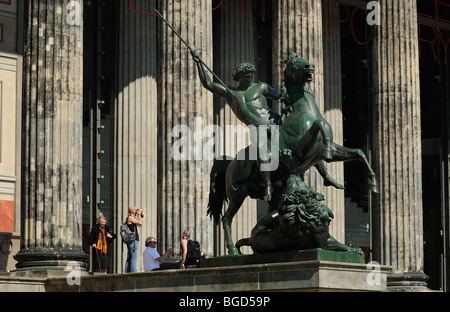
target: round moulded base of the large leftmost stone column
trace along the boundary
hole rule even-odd
[[[78,248],[39,248],[21,250],[14,259],[17,260],[16,271],[67,270],[74,266],[87,271],[88,255]]]

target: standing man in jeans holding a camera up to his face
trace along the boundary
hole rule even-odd
[[[128,208],[127,225],[130,231],[136,233],[136,239],[127,245],[128,254],[127,261],[125,262],[125,272],[134,273],[137,272],[137,261],[139,255],[139,233],[137,228],[141,227],[144,223],[144,209],[131,206]]]

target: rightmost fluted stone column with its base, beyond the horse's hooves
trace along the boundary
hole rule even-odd
[[[374,33],[374,260],[391,265],[388,286],[425,288],[417,7],[381,0]]]

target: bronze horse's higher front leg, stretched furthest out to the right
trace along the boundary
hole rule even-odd
[[[336,143],[332,144],[333,148],[333,159],[326,160],[327,162],[336,162],[336,161],[347,161],[347,160],[359,160],[361,161],[367,169],[369,174],[368,186],[369,190],[374,193],[379,193],[379,187],[377,182],[377,177],[375,171],[373,171],[372,167],[367,160],[366,154],[360,150],[359,148],[348,148]]]

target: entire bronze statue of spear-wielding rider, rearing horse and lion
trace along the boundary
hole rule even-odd
[[[329,176],[323,162],[359,160],[368,170],[369,189],[378,192],[375,172],[366,155],[360,149],[345,148],[333,142],[331,126],[320,114],[314,96],[306,87],[306,83],[313,80],[314,65],[296,53],[290,53],[283,61],[286,69],[280,94],[266,83],[254,83],[255,67],[246,63],[241,64],[233,75],[239,85],[228,87],[161,13],[155,12],[191,51],[203,86],[224,97],[244,124],[254,126],[253,130],[263,127],[267,131],[263,140],[259,131],[253,133],[256,159],[249,157],[250,146],[240,152],[246,156],[244,159],[216,159],[211,170],[208,214],[216,223],[220,220],[224,201],[230,201],[222,219],[228,253],[239,254],[231,238],[231,222],[247,196],[269,201],[269,213],[258,222],[250,238],[238,242],[238,247],[247,244],[255,252],[324,248],[360,253],[360,249],[349,249],[329,235],[328,226],[333,214],[320,204],[323,196],[303,181],[306,170],[315,166],[326,186],[342,189],[343,186]],[[220,83],[211,81],[205,67]],[[281,118],[268,107],[266,97],[281,103]],[[275,149],[272,149],[272,141],[278,143]],[[277,168],[267,170],[265,162],[273,157],[280,162]]]

